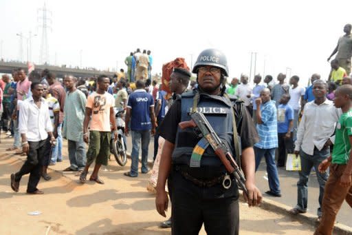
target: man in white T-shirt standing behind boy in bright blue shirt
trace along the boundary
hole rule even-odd
[[[289,79],[289,84],[292,85],[292,88],[289,89],[289,105],[294,110],[294,141],[297,139],[297,127],[298,127],[298,116],[300,114],[300,107],[302,105],[303,99],[305,98],[305,88],[298,85],[300,77],[297,75],[292,76]],[[302,105],[303,107],[303,105]]]

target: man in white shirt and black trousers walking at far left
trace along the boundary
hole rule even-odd
[[[19,192],[19,182],[25,174],[30,174],[28,194],[43,194],[36,187],[41,178],[41,159],[47,145],[54,144],[53,127],[50,121],[49,108],[42,97],[43,85],[39,82],[31,84],[32,97],[21,103],[19,112],[19,133],[22,137],[23,152],[27,160],[16,174],[11,174],[11,187]],[[49,136],[48,136],[49,134]]]

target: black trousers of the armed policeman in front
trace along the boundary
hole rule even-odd
[[[208,189],[194,185],[180,172],[173,171],[170,178],[173,235],[197,235],[203,223],[208,235],[239,234],[239,201],[236,196],[216,198],[214,194],[215,198],[206,198],[204,194],[208,194]]]

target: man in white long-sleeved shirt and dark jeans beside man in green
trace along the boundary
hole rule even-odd
[[[326,98],[327,83],[316,80],[313,84],[314,101],[305,105],[303,117],[297,132],[294,153],[300,154],[302,170],[299,173],[297,205],[290,212],[299,214],[307,212],[308,178],[311,168],[314,167],[319,183],[318,220],[322,216],[321,205],[325,183],[329,173],[320,173],[319,164],[330,155],[330,145],[333,144],[335,124],[340,118],[341,110],[335,108]]]

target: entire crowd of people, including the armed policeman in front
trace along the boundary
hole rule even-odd
[[[148,146],[154,136],[154,165],[147,189],[156,193],[157,212],[162,216],[168,207],[166,181],[172,202],[172,216],[162,227],[172,227],[174,234],[197,234],[204,223],[208,234],[238,234],[239,187],[225,167],[229,159],[234,156],[241,167],[245,200],[255,206],[262,200],[254,183],[261,159],[267,165],[265,194],[281,197],[278,167],[285,167],[287,154],[296,154],[301,170],[297,204],[290,213],[307,212],[308,178],[315,170],[320,186],[320,225],[315,234],[331,234],[342,202],[352,207],[351,25],[344,32],[331,54],[338,53],[331,61],[329,78],[325,81],[312,74],[307,88],[296,75],[287,83],[283,73],[277,81],[266,75],[264,83],[256,74],[254,85],[242,74],[227,84],[225,54],[215,49],[199,54],[192,68],[196,81],[190,81],[190,71],[174,68],[170,99],[158,81],[151,81],[152,59],[146,50],[131,52],[125,61],[126,74],[120,70],[111,78],[67,75],[60,82],[49,70],[33,70],[27,76],[22,68],[12,72],[12,79],[5,74],[0,80],[2,132],[14,138],[8,150],[27,155],[21,169],[10,176],[12,190],[18,192],[21,177],[30,174],[28,194],[43,194],[37,187],[39,180],[49,181],[48,165],[63,161],[63,139],[69,152],[69,166],[63,171],[80,172],[79,181],[85,183],[95,161],[89,181],[104,184],[99,170],[108,164],[111,139],[117,139],[113,108],[124,108],[124,133],[132,139],[131,169],[124,176],[138,176],[140,149],[140,172],[151,170]],[[225,158],[207,144],[207,136],[202,139],[194,130],[179,127],[190,121],[192,112],[206,116],[227,148]]]

